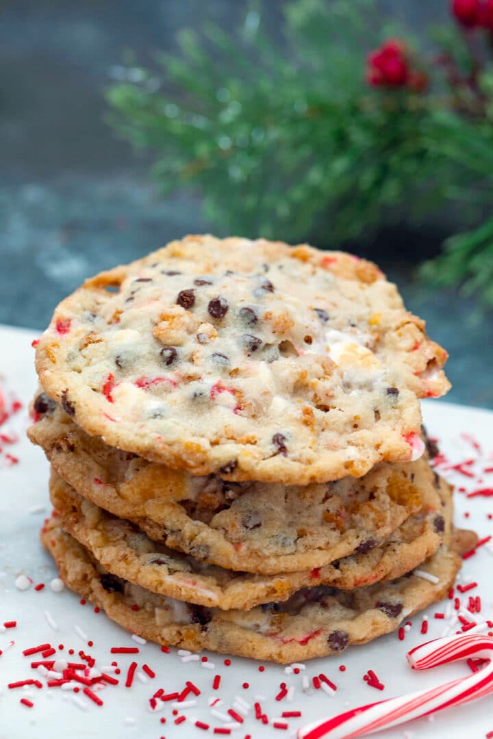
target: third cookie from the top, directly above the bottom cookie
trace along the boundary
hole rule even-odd
[[[369,542],[358,554],[331,565],[271,576],[204,565],[157,544],[135,525],[89,503],[61,477],[52,478],[50,497],[64,531],[109,573],[196,605],[248,610],[260,603],[287,600],[303,587],[323,583],[353,589],[395,579],[417,567],[437,551],[452,525],[452,488],[444,480],[440,483],[440,500],[436,494],[425,499],[421,511],[410,516],[380,547]]]

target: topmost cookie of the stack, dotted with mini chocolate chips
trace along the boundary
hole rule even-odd
[[[192,474],[305,485],[421,454],[446,352],[370,262],[187,236],[58,305],[41,384],[86,432]]]

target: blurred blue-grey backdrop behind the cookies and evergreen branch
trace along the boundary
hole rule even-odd
[[[275,30],[282,0],[269,0]],[[448,13],[446,0],[381,0],[381,12],[419,30]],[[233,29],[244,0],[33,0],[0,4],[0,323],[42,329],[86,277],[203,231],[200,203],[160,199],[149,160],[104,123],[101,96],[112,67],[133,49],[144,63],[175,49],[180,27],[205,18]],[[438,252],[447,224],[395,228],[351,245],[398,282],[409,310],[451,355],[450,401],[493,408],[491,313],[452,291],[430,294],[413,279]]]

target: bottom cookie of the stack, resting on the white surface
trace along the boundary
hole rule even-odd
[[[340,655],[351,644],[395,630],[402,619],[445,596],[462,562],[452,537],[420,567],[438,578],[436,585],[411,573],[384,585],[352,591],[322,585],[299,590],[285,603],[225,611],[160,596],[109,574],[62,531],[57,517],[45,526],[41,541],[67,587],[132,633],[191,651],[280,663]],[[459,542],[474,545],[475,536],[461,534]]]

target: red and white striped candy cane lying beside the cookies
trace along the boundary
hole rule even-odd
[[[399,723],[441,711],[449,706],[460,706],[493,692],[493,638],[480,634],[452,636],[428,641],[415,647],[407,655],[412,670],[429,670],[439,664],[459,659],[488,660],[485,667],[466,678],[452,680],[431,690],[390,698],[388,701],[353,708],[333,718],[315,721],[299,729],[298,739],[352,739],[390,729]]]

